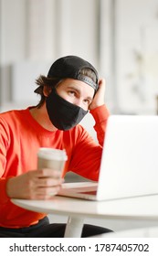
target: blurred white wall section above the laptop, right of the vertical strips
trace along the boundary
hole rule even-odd
[[[119,111],[156,113],[158,1],[117,1],[117,96]]]

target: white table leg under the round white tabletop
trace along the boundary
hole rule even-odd
[[[83,228],[83,222],[84,222],[83,218],[69,216],[64,237],[65,238],[80,238],[81,231]]]

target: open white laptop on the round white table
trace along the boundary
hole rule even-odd
[[[65,184],[58,193],[60,196],[90,200],[153,194],[158,194],[156,115],[111,115],[101,157],[99,182]]]

